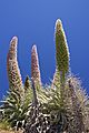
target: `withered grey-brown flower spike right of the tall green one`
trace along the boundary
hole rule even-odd
[[[71,133],[85,133],[83,115],[82,115],[80,102],[75,92],[75,85],[72,82],[73,82],[73,79],[71,78],[68,81],[68,84],[69,84],[68,93],[69,93],[69,98],[71,99],[70,112],[69,112],[70,124],[68,129],[69,129],[69,132]]]

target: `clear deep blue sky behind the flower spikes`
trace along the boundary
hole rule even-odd
[[[41,78],[49,83],[56,69],[55,22],[66,31],[71,72],[89,93],[89,0],[0,0],[0,99],[9,88],[7,53],[13,35],[19,38],[18,61],[22,80],[30,76],[31,47],[37,44]]]

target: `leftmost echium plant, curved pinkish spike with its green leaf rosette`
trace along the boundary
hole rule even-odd
[[[17,44],[18,38],[13,37],[10,42],[10,49],[7,57],[7,71],[9,79],[9,91],[7,92],[7,98],[3,100],[3,104],[1,105],[3,120],[7,121],[11,127],[21,126],[24,122],[26,113],[28,111],[28,106],[30,101],[30,96],[32,95],[30,85],[27,88],[27,79],[23,86],[18,61],[17,61]],[[30,84],[30,82],[29,82]],[[29,92],[27,94],[27,92]],[[28,100],[27,100],[28,98]]]

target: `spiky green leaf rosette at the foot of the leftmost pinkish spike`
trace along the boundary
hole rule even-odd
[[[18,122],[24,119],[21,98],[16,90],[9,90],[1,109],[3,110],[3,120],[8,121],[11,127],[17,126]]]

